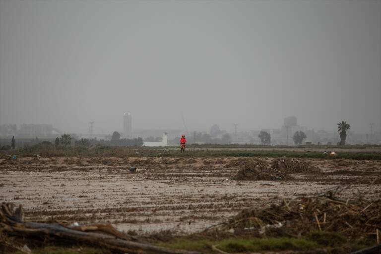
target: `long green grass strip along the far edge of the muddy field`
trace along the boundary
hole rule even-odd
[[[148,147],[112,147],[112,146],[96,146],[92,148],[70,146],[70,147],[41,147],[32,146],[19,148],[14,151],[1,152],[3,155],[17,156],[82,156],[82,157],[286,157],[286,158],[320,158],[320,159],[356,159],[356,160],[381,160],[381,152],[351,152],[338,151],[338,156],[329,157],[321,151],[306,151],[290,147],[294,150],[276,150],[274,147],[269,150],[244,150],[235,148],[189,148],[185,153],[180,153],[180,149],[169,147],[170,153],[164,153],[164,148],[148,148]],[[137,153],[136,153],[137,152]]]

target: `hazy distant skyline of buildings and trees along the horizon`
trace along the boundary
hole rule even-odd
[[[300,127],[296,117],[286,117],[278,129],[235,131],[228,133],[213,125],[209,131],[187,131],[184,129],[132,129],[132,116],[123,115],[123,132],[94,134],[94,122],[90,122],[88,134],[63,133],[51,124],[0,125],[0,149],[6,150],[16,139],[16,145],[32,146],[42,142],[55,145],[77,146],[168,146],[178,145],[179,138],[186,134],[189,144],[262,144],[262,145],[345,145],[381,144],[381,131],[360,134],[350,130],[346,122],[337,124],[338,132]]]

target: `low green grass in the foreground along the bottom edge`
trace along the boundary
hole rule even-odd
[[[306,237],[270,237],[270,238],[227,238],[215,240],[204,236],[191,236],[172,239],[167,242],[156,242],[157,246],[170,249],[197,251],[201,253],[249,253],[299,251],[311,253],[321,250],[321,253],[344,254],[369,247],[366,241],[347,242],[345,237],[335,233],[312,232]],[[219,250],[219,251],[218,251]],[[13,254],[22,254],[14,252]],[[109,250],[95,249],[86,246],[47,246],[34,249],[32,254],[110,254]]]

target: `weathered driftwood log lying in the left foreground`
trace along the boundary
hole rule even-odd
[[[25,222],[21,205],[14,209],[12,203],[3,202],[0,208],[0,244],[30,253],[27,246],[17,242],[17,238],[40,239],[41,241],[49,239],[56,243],[68,241],[106,247],[128,254],[198,254],[138,242],[136,238],[123,234],[111,224],[68,227],[59,223]]]

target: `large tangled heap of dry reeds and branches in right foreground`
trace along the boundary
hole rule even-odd
[[[324,231],[345,233],[351,239],[363,238],[380,234],[381,200],[342,201],[326,196],[283,199],[265,208],[244,209],[218,229],[257,236],[301,236]]]

